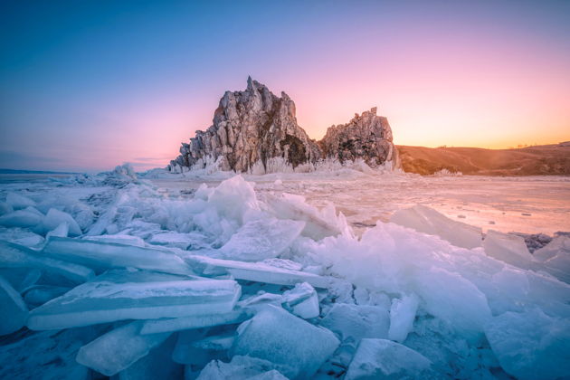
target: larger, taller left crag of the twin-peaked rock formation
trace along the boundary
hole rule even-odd
[[[266,166],[281,157],[290,166],[315,162],[317,143],[307,136],[295,118],[295,103],[285,92],[277,97],[258,81],[247,81],[244,91],[226,91],[214,112],[214,125],[197,131],[181,155],[178,166],[205,166],[222,157],[221,168],[246,172],[256,163]]]

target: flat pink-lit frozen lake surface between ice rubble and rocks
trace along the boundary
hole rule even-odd
[[[342,176],[272,174],[245,176],[260,194],[285,192],[306,197],[322,207],[333,203],[358,231],[387,222],[394,211],[424,204],[446,216],[504,233],[553,233],[570,231],[570,177],[532,176]],[[277,182],[277,185],[275,181]],[[217,185],[220,179],[182,177],[153,179],[173,192]]]

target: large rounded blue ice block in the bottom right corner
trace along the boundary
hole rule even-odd
[[[506,312],[485,328],[500,366],[519,379],[556,379],[570,374],[570,320],[540,309]]]

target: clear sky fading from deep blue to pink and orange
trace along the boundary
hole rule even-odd
[[[372,107],[398,145],[570,140],[570,1],[0,4],[0,167],[166,166],[248,75],[321,138]]]

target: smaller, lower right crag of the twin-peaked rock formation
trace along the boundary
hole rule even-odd
[[[376,116],[376,108],[361,116],[356,114],[347,124],[328,128],[318,144],[324,157],[337,158],[340,162],[362,158],[368,166],[375,167],[397,161],[392,128],[388,119]]]

